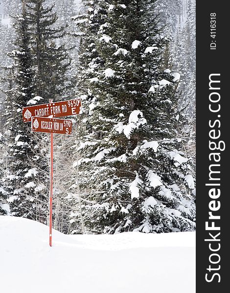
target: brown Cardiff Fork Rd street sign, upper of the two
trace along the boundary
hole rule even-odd
[[[23,121],[30,122],[32,117],[65,117],[81,113],[81,100],[47,103],[23,108]]]

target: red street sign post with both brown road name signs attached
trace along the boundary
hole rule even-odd
[[[32,132],[50,133],[50,189],[49,189],[49,246],[52,246],[52,207],[53,207],[53,134],[71,134],[72,121],[56,119],[81,114],[80,99],[35,105],[23,108],[23,121],[31,122]],[[84,231],[84,230],[83,230]]]

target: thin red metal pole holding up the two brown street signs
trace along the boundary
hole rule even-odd
[[[49,103],[52,103],[49,100]],[[52,209],[53,209],[53,133],[50,133],[50,190],[49,190],[49,246],[52,246]]]

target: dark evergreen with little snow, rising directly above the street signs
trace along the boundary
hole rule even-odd
[[[58,17],[53,6],[46,7],[45,0],[26,0],[31,30],[36,95],[45,101],[63,99],[61,95],[70,86],[66,72],[70,61],[65,44],[59,44],[65,27],[55,27]]]

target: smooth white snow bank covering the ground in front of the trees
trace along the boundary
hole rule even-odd
[[[0,216],[5,293],[195,293],[195,232],[65,235]]]

